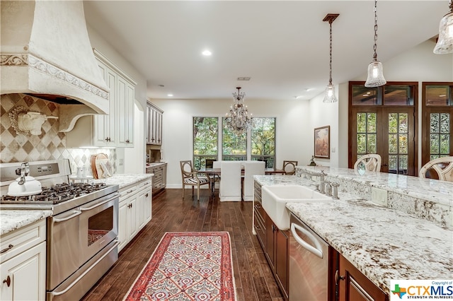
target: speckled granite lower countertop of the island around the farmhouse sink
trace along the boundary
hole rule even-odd
[[[254,178],[262,185],[309,184],[308,180],[296,176]],[[443,187],[442,183],[434,185]],[[451,229],[379,206],[360,196],[345,192],[339,192],[338,196],[339,200],[329,203],[287,203],[286,206],[389,295],[390,280],[453,278]],[[448,202],[448,199],[440,201]]]

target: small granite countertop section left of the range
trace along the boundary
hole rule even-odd
[[[52,216],[51,210],[0,210],[0,235]]]

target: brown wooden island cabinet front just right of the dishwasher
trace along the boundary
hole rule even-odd
[[[340,255],[338,266],[340,301],[385,301],[388,295]]]

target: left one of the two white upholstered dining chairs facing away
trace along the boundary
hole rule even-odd
[[[222,161],[220,201],[241,201],[241,161]]]

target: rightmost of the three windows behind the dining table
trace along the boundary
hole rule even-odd
[[[275,166],[275,118],[253,118],[251,160],[265,161],[266,168]]]

